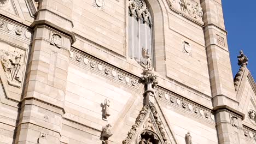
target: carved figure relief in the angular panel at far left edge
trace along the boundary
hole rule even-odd
[[[14,52],[1,50],[0,59],[9,85],[20,88],[23,78],[24,55],[16,50]]]

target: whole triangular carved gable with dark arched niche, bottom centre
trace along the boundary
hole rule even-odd
[[[153,103],[149,103],[142,108],[123,144],[150,142],[153,144],[169,144],[171,141],[174,141],[173,137],[170,140],[156,107]]]

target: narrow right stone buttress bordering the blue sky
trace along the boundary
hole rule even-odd
[[[201,6],[218,140],[220,144],[236,143],[233,137],[238,126],[232,126],[230,116],[233,115],[231,113],[235,113],[237,117],[242,117],[243,114],[238,108],[236,98],[222,3],[220,0],[202,0]]]

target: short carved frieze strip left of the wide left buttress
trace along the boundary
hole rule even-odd
[[[0,30],[5,31],[11,35],[15,35],[26,41],[31,41],[32,33],[27,29],[21,28],[20,26],[14,25],[14,23],[0,19]]]

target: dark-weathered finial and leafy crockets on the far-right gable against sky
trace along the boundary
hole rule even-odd
[[[243,74],[245,73],[246,65],[248,64],[248,58],[245,56],[242,50],[240,51],[240,55],[237,56],[237,58],[240,68],[234,79],[234,86],[236,91],[238,91],[238,88],[240,87]]]

